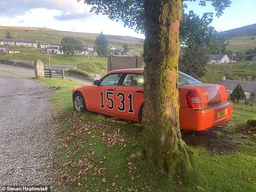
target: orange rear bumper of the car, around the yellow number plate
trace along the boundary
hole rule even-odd
[[[217,113],[227,109],[228,114],[222,117],[218,117]],[[222,125],[229,121],[232,115],[233,103],[231,101],[209,107],[207,109],[192,109],[180,107],[180,129],[200,131]]]

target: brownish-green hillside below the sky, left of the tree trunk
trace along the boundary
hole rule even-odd
[[[61,42],[62,38],[74,36],[82,41],[84,45],[94,45],[98,34],[79,33],[70,31],[57,31],[54,29],[38,28],[38,27],[6,27],[0,26],[0,38],[5,38],[6,31],[10,30],[10,34],[16,39],[37,40],[37,42]],[[124,43],[128,43],[130,47],[138,50],[143,49],[143,39],[129,36],[105,35],[110,46],[122,47]]]

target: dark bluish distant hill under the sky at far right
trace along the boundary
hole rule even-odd
[[[225,35],[228,38],[233,38],[236,36],[244,36],[244,35],[256,35],[256,23],[252,24],[252,25],[239,27],[236,29],[222,31],[221,33],[222,33],[222,35]]]

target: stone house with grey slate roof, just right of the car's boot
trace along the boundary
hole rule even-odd
[[[226,88],[228,94],[233,92],[238,83],[241,84],[247,100],[256,100],[256,82],[229,80],[226,77],[220,81],[220,85]]]

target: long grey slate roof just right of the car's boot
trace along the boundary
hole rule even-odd
[[[245,92],[256,92],[256,83],[249,81],[235,81],[235,80],[222,80],[220,85],[223,85],[226,89],[234,90],[237,84],[240,83]]]

